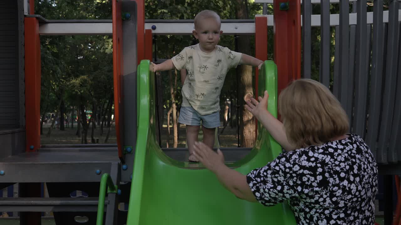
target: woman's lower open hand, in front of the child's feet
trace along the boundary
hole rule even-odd
[[[217,149],[216,153],[203,142],[195,142],[194,155],[207,169],[214,173],[218,171],[221,166],[225,166],[224,156],[220,149]]]

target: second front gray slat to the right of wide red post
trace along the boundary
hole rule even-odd
[[[330,86],[330,2],[320,3],[320,82]]]

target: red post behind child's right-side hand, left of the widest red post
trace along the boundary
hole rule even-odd
[[[257,16],[255,18],[255,56],[267,60],[267,17]],[[259,70],[255,74],[255,96],[258,95]],[[257,139],[257,120],[255,119],[255,140]]]

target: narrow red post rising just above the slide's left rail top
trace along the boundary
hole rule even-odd
[[[141,60],[145,59],[145,2],[144,0],[135,0],[137,7],[138,18],[136,20],[137,24],[137,50],[138,50],[138,65]]]

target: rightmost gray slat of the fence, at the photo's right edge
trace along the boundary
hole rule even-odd
[[[391,130],[391,120],[393,118],[395,83],[397,81],[398,63],[398,5],[393,1],[389,4],[389,25],[387,37],[387,63],[385,75],[385,88],[383,92],[382,120],[379,133],[378,151],[387,151],[389,135]],[[395,163],[393,151],[388,149],[388,157],[383,163]]]

